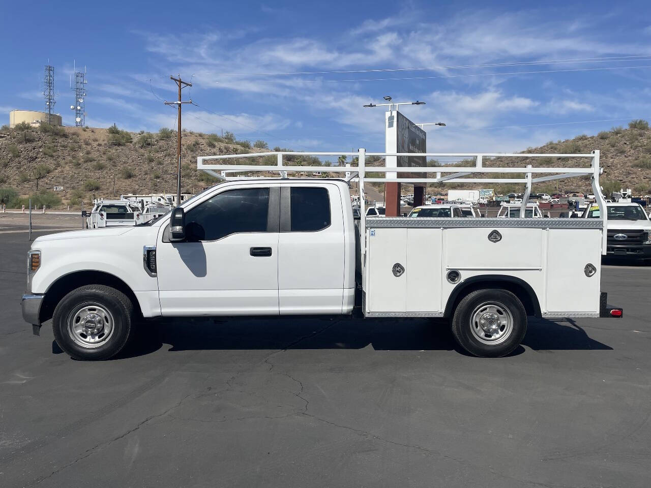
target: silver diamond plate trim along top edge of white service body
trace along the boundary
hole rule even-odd
[[[545,219],[545,218],[515,218],[515,219],[484,219],[467,217],[465,219],[441,219],[436,217],[383,217],[381,219],[366,219],[367,227],[520,227],[520,228],[603,228],[602,219]]]

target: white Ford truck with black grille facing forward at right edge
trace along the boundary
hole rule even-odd
[[[608,239],[606,252],[609,258],[651,260],[651,221],[644,208],[637,203],[613,202],[606,204],[608,212]],[[599,219],[596,205],[583,213],[585,219]]]

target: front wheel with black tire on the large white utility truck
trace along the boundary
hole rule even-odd
[[[85,322],[79,320],[83,314]],[[57,344],[70,357],[104,360],[122,350],[131,334],[133,319],[133,304],[122,291],[92,284],[72,290],[63,297],[54,310],[52,329]],[[85,323],[95,324],[92,331],[97,334],[85,334],[90,330],[83,328]],[[76,333],[76,327],[83,331]]]

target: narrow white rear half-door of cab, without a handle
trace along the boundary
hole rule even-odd
[[[344,214],[337,185],[295,183],[281,187],[281,315],[341,313],[344,245]]]

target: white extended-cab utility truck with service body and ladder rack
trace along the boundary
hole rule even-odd
[[[283,165],[285,154],[298,153],[199,157],[197,167],[221,174],[234,166],[215,160],[273,155],[277,166],[236,167],[281,174],[304,170]],[[341,154],[350,156],[326,156]],[[356,170],[351,178],[359,178],[362,195],[366,182],[473,182],[454,174],[366,178],[365,150],[353,155],[359,167],[348,170]],[[482,158],[518,154],[420,156],[477,160],[474,168],[437,168],[444,173],[525,173],[525,178],[481,181],[524,183],[527,192],[532,182],[568,174],[590,176],[598,188],[598,152],[558,156],[591,159],[590,167],[576,169],[482,166]],[[406,170],[427,171],[372,167],[373,172]],[[544,176],[532,178],[538,172]],[[620,308],[607,306],[600,290],[602,219],[367,219],[361,199],[355,224],[347,181],[225,179],[143,225],[38,237],[27,258],[25,321],[38,334],[52,318],[55,339],[66,353],[107,359],[122,349],[141,318],[350,316],[357,306],[366,318],[447,318],[466,351],[500,357],[520,344],[527,316],[622,315]],[[571,251],[579,242],[581,256]],[[568,282],[577,293],[561,286]]]

